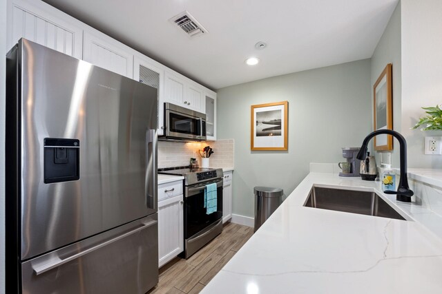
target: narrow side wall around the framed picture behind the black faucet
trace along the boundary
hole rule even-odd
[[[372,56],[372,113],[374,111],[373,85],[388,63],[393,65],[393,129],[401,132],[401,2],[396,6]],[[374,118],[372,117],[372,129],[373,120]],[[399,167],[399,143],[396,139],[393,140],[393,166]],[[378,164],[381,162],[378,152],[376,152],[376,161]]]

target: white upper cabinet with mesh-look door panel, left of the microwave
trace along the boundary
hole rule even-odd
[[[164,66],[144,55],[133,59],[133,79],[157,89],[158,135],[164,134]]]

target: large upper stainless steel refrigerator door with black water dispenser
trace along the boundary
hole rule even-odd
[[[155,213],[157,90],[24,39],[19,64],[19,258]],[[45,183],[48,138],[78,143],[78,180]],[[49,151],[57,168],[70,156]]]

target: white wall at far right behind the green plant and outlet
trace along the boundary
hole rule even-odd
[[[402,0],[402,125],[408,166],[441,168],[442,156],[423,154],[425,136],[442,132],[410,129],[424,114],[421,107],[442,104],[442,1]]]

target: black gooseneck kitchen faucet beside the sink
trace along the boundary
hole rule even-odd
[[[392,135],[396,139],[398,139],[400,147],[399,156],[401,158],[401,179],[399,180],[398,191],[387,190],[384,191],[384,193],[396,194],[396,200],[398,201],[411,202],[414,192],[410,190],[410,187],[408,187],[408,180],[407,180],[407,142],[405,141],[405,138],[403,138],[401,134],[399,134],[396,131],[393,131],[392,129],[378,129],[377,131],[368,134],[368,136],[365,137],[361,149],[359,150],[356,158],[358,158],[359,160],[364,160],[367,154],[367,145],[369,140],[374,136],[380,134]]]

